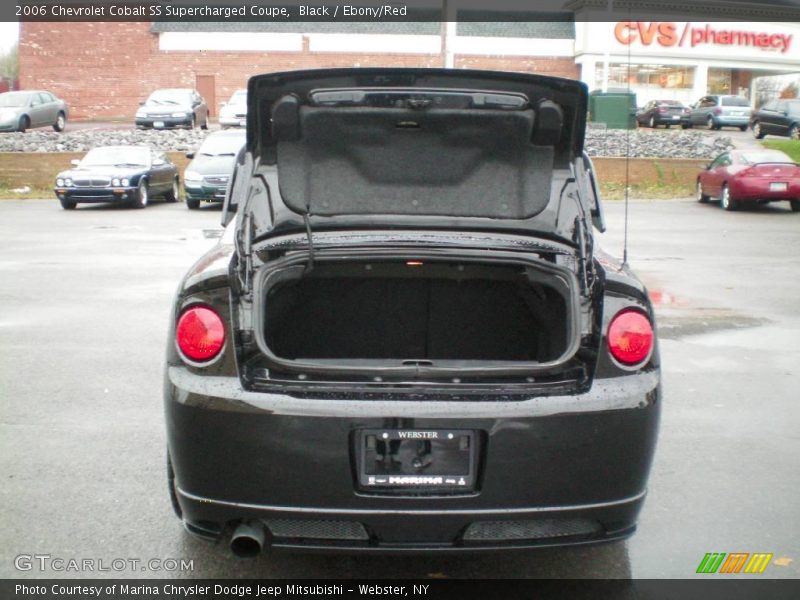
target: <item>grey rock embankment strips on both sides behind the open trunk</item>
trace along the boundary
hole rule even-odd
[[[194,150],[208,131],[87,129],[56,133],[29,131],[0,134],[0,152],[86,152],[95,146],[149,144],[164,151]],[[590,156],[628,155],[633,158],[714,158],[733,147],[731,138],[695,130],[649,131],[589,129],[586,150]]]

